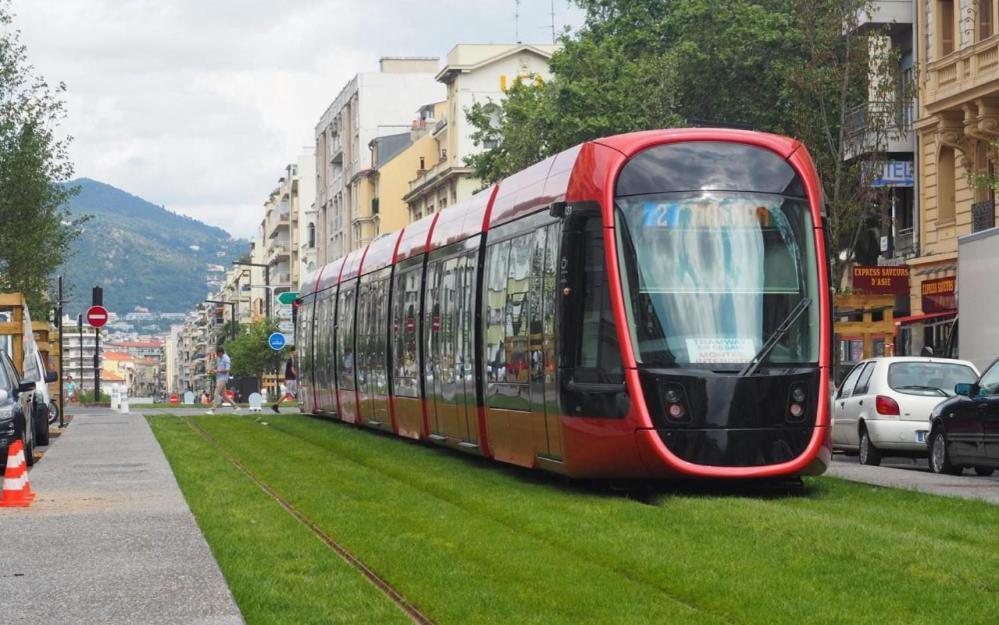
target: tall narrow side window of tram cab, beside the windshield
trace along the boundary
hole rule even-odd
[[[586,222],[583,254],[582,332],[574,378],[577,382],[623,382],[624,369],[610,305],[603,228],[599,219]]]

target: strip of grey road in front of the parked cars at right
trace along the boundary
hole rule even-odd
[[[855,459],[842,458],[839,455],[833,458],[826,471],[826,475],[832,477],[999,504],[999,481],[973,475],[970,471],[966,471],[964,475],[938,475],[924,470],[922,465],[914,464],[909,468],[869,467],[858,464]],[[925,465],[926,461],[922,462]]]

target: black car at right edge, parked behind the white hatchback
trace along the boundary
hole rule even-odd
[[[930,415],[930,468],[959,475],[973,467],[978,475],[992,475],[999,469],[999,360],[978,382],[958,384],[954,392]]]

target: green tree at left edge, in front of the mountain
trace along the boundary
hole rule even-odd
[[[74,190],[57,184],[73,173],[70,139],[57,136],[66,87],[35,73],[12,25],[0,0],[0,291],[21,291],[37,308],[85,219],[70,216],[63,205]]]

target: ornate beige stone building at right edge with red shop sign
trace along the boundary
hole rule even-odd
[[[914,347],[946,339],[954,297],[939,291],[953,284],[945,279],[956,275],[958,237],[995,225],[995,193],[973,184],[969,174],[995,173],[999,140],[996,0],[918,0],[917,7],[922,210],[919,256],[909,260],[910,302],[913,315],[932,316],[922,332],[914,329]]]

